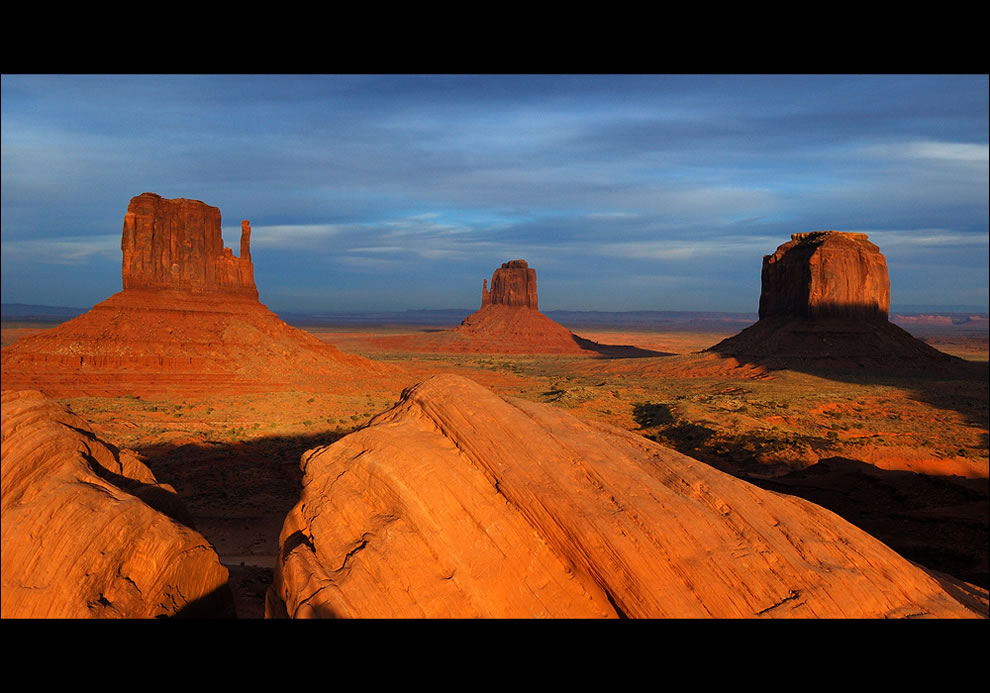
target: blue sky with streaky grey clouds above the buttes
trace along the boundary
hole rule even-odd
[[[988,308],[987,75],[0,76],[4,303],[121,289],[144,192],[251,221],[278,311],[755,312],[764,255],[869,234],[891,303]]]

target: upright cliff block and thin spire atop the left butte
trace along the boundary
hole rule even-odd
[[[257,300],[251,225],[241,224],[241,256],[223,245],[220,210],[199,200],[155,193],[131,198],[124,215],[124,289],[172,289]]]

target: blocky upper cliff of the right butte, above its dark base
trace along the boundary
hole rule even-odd
[[[763,258],[760,318],[886,320],[887,261],[865,233],[795,233]]]

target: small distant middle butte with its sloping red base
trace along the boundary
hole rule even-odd
[[[536,271],[525,260],[502,263],[482,282],[481,308],[453,330],[379,338],[379,346],[409,351],[482,354],[561,354],[598,358],[668,356],[634,346],[584,339],[540,312]]]

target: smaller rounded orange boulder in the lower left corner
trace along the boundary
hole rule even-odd
[[[3,618],[233,615],[213,547],[166,514],[171,487],[40,392],[2,403]]]

